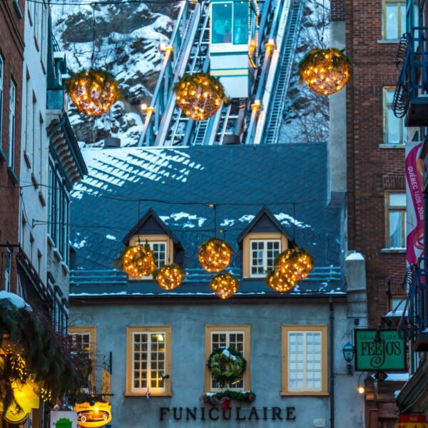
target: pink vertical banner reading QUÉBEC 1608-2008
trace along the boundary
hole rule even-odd
[[[422,143],[406,143],[406,259],[417,263],[424,254],[424,181],[423,161],[419,159]]]

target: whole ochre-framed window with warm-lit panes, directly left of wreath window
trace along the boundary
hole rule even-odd
[[[128,394],[170,394],[170,332],[170,327],[128,327]]]

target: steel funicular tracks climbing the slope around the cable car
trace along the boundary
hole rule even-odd
[[[222,104],[206,121],[193,121],[176,106],[173,85],[185,73],[209,69],[209,7],[205,0],[180,1],[151,104],[143,110],[138,146],[277,143],[304,0],[265,0],[259,6],[258,66],[250,71],[250,97]]]

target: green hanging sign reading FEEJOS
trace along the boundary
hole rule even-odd
[[[357,372],[407,372],[406,347],[397,330],[355,330]]]

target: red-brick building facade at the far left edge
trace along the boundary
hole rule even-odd
[[[0,1],[0,290],[11,291],[19,243],[24,9],[25,0]]]

